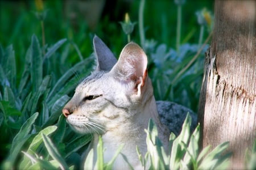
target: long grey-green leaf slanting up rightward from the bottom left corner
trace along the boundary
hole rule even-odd
[[[15,135],[13,139],[13,143],[11,145],[10,154],[5,161],[4,167],[6,169],[12,169],[14,162],[20,153],[20,150],[27,139],[30,137],[29,133],[31,131],[32,125],[34,124],[36,118],[38,117],[38,113],[33,114],[20,128],[19,132]]]

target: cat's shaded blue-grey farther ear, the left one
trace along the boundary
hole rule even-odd
[[[96,35],[93,37],[94,53],[97,59],[96,71],[110,71],[117,59],[106,44]]]

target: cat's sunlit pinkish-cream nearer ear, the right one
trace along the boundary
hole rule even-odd
[[[112,72],[124,82],[135,82],[136,88],[143,87],[147,77],[147,56],[143,49],[134,42],[127,44]]]

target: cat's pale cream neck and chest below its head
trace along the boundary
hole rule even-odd
[[[148,80],[150,81],[150,79]],[[147,84],[151,85],[151,83]],[[152,120],[158,126],[159,138],[165,144],[166,142],[168,142],[168,139],[164,139],[164,133],[168,133],[168,130],[166,131],[166,129],[159,121],[152,87],[146,87],[145,89],[147,91],[144,92],[144,94],[146,94],[147,96],[143,97],[143,101],[141,102],[141,104],[138,104],[136,107],[133,107],[128,111],[131,112],[131,114],[133,114],[134,116],[119,122],[116,128],[106,131],[106,133],[102,135],[102,141],[104,143],[104,148],[106,149],[104,152],[105,161],[111,160],[119,145],[121,143],[125,143],[125,146],[123,146],[123,149],[121,151],[122,154],[126,155],[131,165],[133,165],[134,167],[139,167],[139,169],[141,169],[142,167],[138,161],[136,147],[139,147],[142,155],[146,154],[146,132],[144,131],[144,129],[148,128],[148,121],[150,120],[150,118],[152,118]],[[97,141],[98,135],[96,134],[94,136],[94,151],[96,151]],[[115,167],[126,164],[121,155],[118,156],[115,162],[118,164]]]

